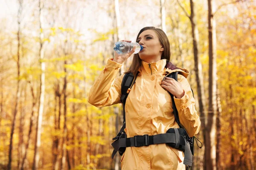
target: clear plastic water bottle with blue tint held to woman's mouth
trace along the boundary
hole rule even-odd
[[[116,51],[117,54],[126,54],[130,52],[134,46],[136,46],[136,49],[133,54],[137,54],[143,49],[143,46],[137,42],[119,41],[115,43],[114,51]]]

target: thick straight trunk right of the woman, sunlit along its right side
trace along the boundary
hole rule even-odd
[[[209,110],[205,134],[205,170],[216,169],[216,28],[213,13],[214,0],[208,0],[208,38],[209,38]]]

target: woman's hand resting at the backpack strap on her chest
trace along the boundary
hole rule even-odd
[[[166,77],[162,82],[162,88],[165,88],[176,98],[180,99],[184,96],[185,91],[183,90],[180,82],[177,82],[175,79]]]

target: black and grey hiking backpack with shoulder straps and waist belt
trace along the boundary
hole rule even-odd
[[[114,155],[119,152],[122,155],[125,152],[126,147],[140,147],[140,146],[148,146],[149,144],[159,144],[159,143],[166,143],[171,147],[175,147],[179,150],[182,150],[184,153],[184,161],[183,164],[186,165],[186,169],[188,170],[189,167],[192,166],[192,159],[194,156],[194,140],[196,139],[195,136],[189,137],[188,133],[186,132],[185,128],[180,124],[180,119],[178,115],[177,108],[175,106],[174,95],[169,93],[172,98],[172,108],[175,115],[175,121],[179,125],[180,128],[170,128],[167,130],[166,133],[158,134],[154,136],[134,136],[131,138],[127,138],[125,134],[125,102],[128,97],[129,92],[131,91],[132,86],[134,85],[139,72],[137,72],[136,76],[134,77],[133,74],[125,74],[121,84],[121,102],[123,104],[123,126],[121,127],[119,133],[116,137],[113,138],[115,140],[112,143],[114,148],[112,153],[112,159]],[[171,74],[167,74],[166,77],[173,78],[177,81],[178,72],[172,72]],[[166,78],[164,77],[164,79]],[[192,89],[191,89],[192,90]],[[192,91],[193,94],[193,91]],[[193,94],[194,96],[194,94]],[[154,141],[158,142],[153,142]],[[157,139],[157,140],[156,140]],[[198,139],[196,139],[198,140]],[[199,140],[198,140],[199,141]],[[200,141],[199,141],[200,142]],[[197,142],[196,142],[197,143]],[[201,142],[200,142],[201,143]],[[198,146],[199,147],[199,146]],[[202,147],[202,143],[201,143]],[[200,147],[200,148],[201,148]]]

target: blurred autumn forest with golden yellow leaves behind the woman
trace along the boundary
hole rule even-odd
[[[0,23],[0,170],[119,170],[122,105],[87,98],[114,42],[145,26],[191,72],[203,143],[192,169],[255,169],[255,0],[0,0]]]

